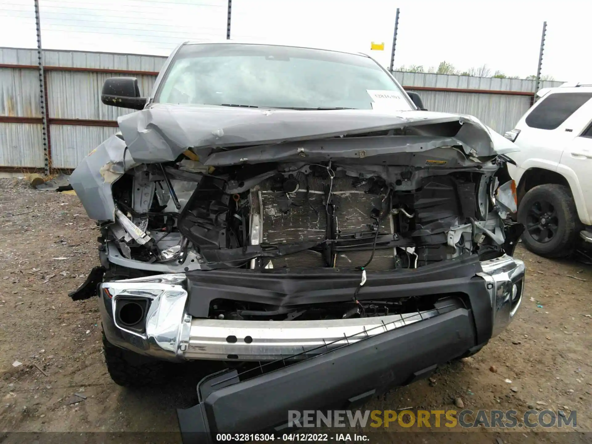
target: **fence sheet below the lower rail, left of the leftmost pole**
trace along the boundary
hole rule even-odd
[[[0,165],[41,167],[41,124],[0,122]]]

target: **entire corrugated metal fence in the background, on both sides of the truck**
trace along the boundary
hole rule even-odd
[[[44,50],[49,156],[54,169],[72,169],[117,131],[117,116],[132,110],[101,103],[111,76],[133,75],[148,95],[166,57]],[[480,118],[503,133],[530,107],[535,81],[395,72],[432,111]],[[42,170],[40,88],[37,51],[0,48],[0,171]],[[542,88],[562,82],[542,82]]]

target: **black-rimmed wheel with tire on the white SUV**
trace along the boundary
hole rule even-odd
[[[580,223],[567,186],[546,184],[530,189],[520,202],[518,221],[525,226],[522,242],[533,253],[559,258],[574,249]]]

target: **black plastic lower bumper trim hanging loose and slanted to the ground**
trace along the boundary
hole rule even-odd
[[[236,371],[210,375],[198,385],[200,404],[178,410],[184,443],[271,430],[288,410],[363,402],[463,355],[477,345],[473,326],[471,311],[458,308],[246,381]]]

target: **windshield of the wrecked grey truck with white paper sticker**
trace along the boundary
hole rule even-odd
[[[182,46],[155,101],[301,110],[414,109],[397,83],[369,57],[226,43]]]

